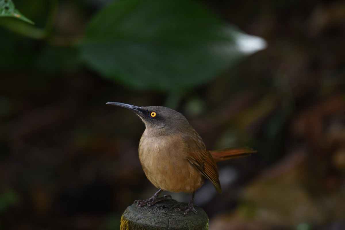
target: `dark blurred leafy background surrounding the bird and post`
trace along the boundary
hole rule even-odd
[[[0,229],[119,229],[156,192],[144,124],[108,101],[176,109],[208,149],[257,150],[218,164],[222,195],[196,192],[210,230],[345,229],[344,1],[0,10]]]

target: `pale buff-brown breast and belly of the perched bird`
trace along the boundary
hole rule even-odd
[[[187,155],[165,140],[141,139],[139,159],[147,178],[157,188],[191,193],[204,183],[201,173],[189,163]]]

